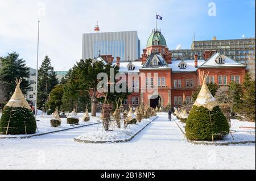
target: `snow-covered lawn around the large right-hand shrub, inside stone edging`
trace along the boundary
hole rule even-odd
[[[176,123],[179,124],[180,128],[185,132],[185,123],[182,123],[176,116],[172,116],[172,119],[175,119]],[[254,127],[255,122],[249,121],[239,121],[237,119],[231,120],[230,131],[231,134],[225,136],[223,140],[214,141],[215,143],[226,143],[226,142],[245,142],[245,141],[255,141],[255,129],[251,128],[240,128],[240,127]],[[200,141],[200,142],[211,142],[211,141]]]

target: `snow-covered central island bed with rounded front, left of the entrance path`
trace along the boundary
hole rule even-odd
[[[113,131],[93,131],[75,137],[77,142],[85,143],[105,143],[105,142],[125,142],[133,139],[139,132],[142,131],[148,124],[154,121],[158,116],[150,117],[149,119],[142,119],[141,123],[131,124],[125,128],[114,129]]]

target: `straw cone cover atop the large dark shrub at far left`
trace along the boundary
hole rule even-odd
[[[22,91],[20,90],[20,83],[22,82],[22,79],[19,78],[19,80],[16,78],[16,89],[11,96],[11,99],[6,104],[6,107],[23,107],[27,108],[28,110],[31,110],[30,104],[28,104],[25,96],[22,94]]]

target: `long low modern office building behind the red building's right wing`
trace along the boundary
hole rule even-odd
[[[173,60],[191,60],[194,54],[203,58],[205,50],[214,50],[242,64],[255,61],[255,38],[193,41],[191,49],[170,50]]]

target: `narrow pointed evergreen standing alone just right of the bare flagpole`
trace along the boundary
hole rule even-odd
[[[46,56],[38,70],[38,108],[44,108],[49,92],[57,83],[56,73],[51,66],[51,59]]]

